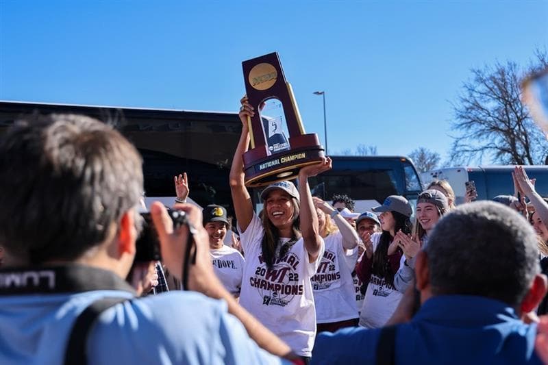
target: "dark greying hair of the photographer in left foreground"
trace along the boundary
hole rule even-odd
[[[141,165],[119,132],[87,116],[16,122],[0,138],[0,242],[32,264],[74,260],[138,204]]]

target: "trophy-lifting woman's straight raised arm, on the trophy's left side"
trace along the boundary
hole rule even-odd
[[[240,100],[242,107],[240,108],[240,121],[242,121],[242,134],[234,158],[232,159],[232,167],[230,168],[230,191],[232,192],[232,203],[234,204],[234,212],[238,226],[242,231],[247,229],[251,218],[253,218],[253,204],[251,197],[244,185],[244,160],[242,155],[249,147],[249,126],[247,125],[248,116],[251,117],[255,113],[253,107],[247,101],[247,97]]]

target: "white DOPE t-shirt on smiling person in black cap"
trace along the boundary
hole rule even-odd
[[[223,244],[220,249],[210,249],[211,262],[215,275],[230,294],[238,297],[242,288],[244,257],[238,250]]]

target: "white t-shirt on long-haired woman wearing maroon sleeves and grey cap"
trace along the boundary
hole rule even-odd
[[[373,251],[377,249],[381,233],[371,236]],[[365,253],[364,253],[365,254]],[[399,301],[403,297],[393,285],[384,278],[371,274],[365,291],[362,312],[360,312],[360,326],[366,328],[383,327],[394,314]]]

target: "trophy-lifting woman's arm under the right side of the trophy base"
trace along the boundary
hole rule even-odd
[[[312,201],[312,194],[310,194],[308,177],[316,176],[329,169],[331,169],[331,159],[324,158],[317,164],[305,166],[299,171],[301,234],[303,235],[304,247],[308,252],[310,262],[314,262],[318,258],[323,240],[319,234],[318,216],[314,202]]]

